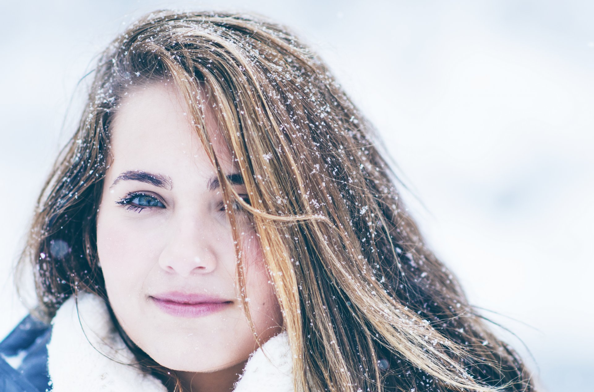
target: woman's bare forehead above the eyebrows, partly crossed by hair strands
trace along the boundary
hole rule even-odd
[[[200,88],[202,98],[206,90]],[[204,123],[219,161],[233,165],[210,101],[203,105]],[[183,96],[172,84],[155,82],[128,90],[113,115],[110,152],[122,164],[210,164]]]

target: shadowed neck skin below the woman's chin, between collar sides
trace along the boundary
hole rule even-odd
[[[247,360],[214,372],[175,372],[184,392],[232,392]]]

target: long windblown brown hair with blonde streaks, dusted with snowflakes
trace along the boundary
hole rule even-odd
[[[33,263],[46,318],[80,290],[106,298],[96,212],[110,122],[129,89],[164,81],[184,96],[226,202],[254,223],[290,338],[295,391],[535,391],[520,358],[424,246],[372,125],[317,55],[253,15],[154,12],[103,53],[20,259]],[[208,141],[204,87],[249,203]]]

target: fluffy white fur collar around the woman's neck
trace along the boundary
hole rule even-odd
[[[78,311],[80,322],[71,297],[52,320],[48,364],[53,392],[167,392],[153,376],[116,362],[133,363],[134,356],[116,333],[102,299],[80,294]],[[291,361],[287,333],[277,334],[249,356],[233,392],[293,392]]]

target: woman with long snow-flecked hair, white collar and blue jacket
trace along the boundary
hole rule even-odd
[[[377,140],[277,24],[133,24],[39,197],[20,262],[39,306],[0,346],[21,352],[5,382],[535,390],[424,246]]]

